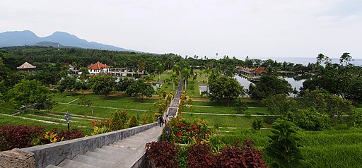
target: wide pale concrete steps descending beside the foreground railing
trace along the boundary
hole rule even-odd
[[[157,141],[161,133],[162,127],[154,126],[102,148],[76,155],[71,160],[65,159],[57,166],[49,164],[47,168],[132,167],[144,155],[146,143]]]

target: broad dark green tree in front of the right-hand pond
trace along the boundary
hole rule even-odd
[[[255,85],[250,84],[249,95],[252,99],[262,100],[271,95],[288,95],[292,90],[291,84],[278,76],[262,76]]]

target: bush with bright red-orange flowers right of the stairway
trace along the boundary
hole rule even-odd
[[[192,139],[209,139],[210,130],[207,128],[207,124],[200,119],[190,122],[183,118],[173,119],[170,126],[175,134],[175,143],[189,143]]]

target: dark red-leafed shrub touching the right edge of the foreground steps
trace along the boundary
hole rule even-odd
[[[146,157],[154,167],[177,167],[178,148],[167,141],[146,144]]]

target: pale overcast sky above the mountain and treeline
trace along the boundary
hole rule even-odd
[[[69,32],[158,54],[362,59],[361,0],[11,0],[0,32]],[[216,56],[218,53],[218,56]]]

